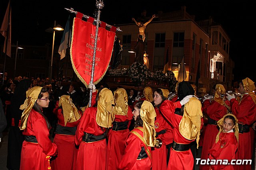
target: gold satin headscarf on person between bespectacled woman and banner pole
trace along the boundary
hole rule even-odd
[[[60,97],[59,107],[60,106],[62,106],[62,110],[63,110],[65,127],[67,122],[72,123],[80,119],[81,115],[78,112],[78,109],[76,108],[74,103],[72,103],[72,99],[70,98],[69,95],[62,95]]]

